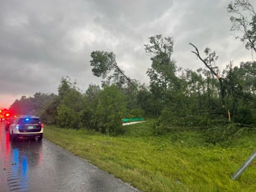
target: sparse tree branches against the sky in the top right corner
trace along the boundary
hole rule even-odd
[[[238,31],[242,36],[235,35],[235,38],[245,42],[247,49],[256,53],[256,12],[248,0],[235,0],[227,6],[227,12],[231,13],[231,31]]]

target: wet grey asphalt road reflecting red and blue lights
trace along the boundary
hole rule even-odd
[[[138,191],[46,139],[9,140],[0,122],[0,191]]]

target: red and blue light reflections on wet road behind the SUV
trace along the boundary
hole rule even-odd
[[[27,161],[31,160],[30,165],[37,165],[41,162],[42,143],[35,139],[10,142],[8,132],[0,131],[0,134],[5,134],[5,146],[1,147],[4,151],[4,170],[9,191],[27,191]],[[3,135],[0,136],[2,138]]]

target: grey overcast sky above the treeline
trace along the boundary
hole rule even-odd
[[[254,0],[251,0],[253,2]],[[229,31],[229,0],[0,0],[0,107],[22,95],[57,92],[62,76],[85,91],[100,84],[89,64],[93,50],[110,50],[131,78],[148,83],[148,37],[172,36],[183,68],[203,67],[190,51],[206,46],[229,60],[252,60]],[[255,2],[253,2],[254,7]]]

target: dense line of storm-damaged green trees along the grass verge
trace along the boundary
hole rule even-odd
[[[229,3],[231,30],[242,28],[245,48],[256,44],[256,14],[247,0]],[[243,16],[243,11],[251,17]],[[238,15],[237,17],[235,17]],[[250,19],[250,20],[248,20]],[[21,97],[10,109],[17,114],[37,114],[48,124],[85,128],[102,133],[121,134],[123,117],[142,115],[158,118],[152,127],[155,134],[182,128],[207,130],[209,141],[217,142],[237,136],[247,125],[256,122],[256,62],[228,63],[220,72],[218,55],[204,49],[204,58],[191,45],[202,67],[193,71],[177,65],[172,58],[172,37],[154,35],[145,44],[151,67],[146,86],[130,79],[107,51],[91,52],[90,65],[95,76],[102,77],[101,87],[90,84],[85,93],[69,77],[60,80],[58,94],[35,93]]]

